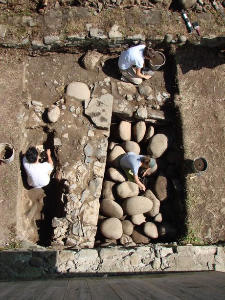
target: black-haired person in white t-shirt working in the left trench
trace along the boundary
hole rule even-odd
[[[47,162],[40,163],[38,151],[35,147],[31,147],[26,151],[22,163],[27,174],[28,185],[40,188],[49,184],[49,175],[53,170],[50,149],[47,149],[46,155]]]

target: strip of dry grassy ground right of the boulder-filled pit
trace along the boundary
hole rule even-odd
[[[180,58],[185,60],[185,53]],[[208,66],[214,63],[211,61]],[[183,127],[184,159],[202,156],[208,162],[208,170],[201,177],[190,179],[193,174],[186,176],[188,232],[185,242],[191,243],[224,239],[224,215],[221,213],[225,190],[224,66],[213,69],[208,69],[208,66],[200,66],[198,58],[186,60],[185,67],[179,66],[181,98],[178,106]],[[189,71],[183,73],[185,68]]]

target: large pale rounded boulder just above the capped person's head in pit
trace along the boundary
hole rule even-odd
[[[150,138],[149,144],[148,144],[148,153],[153,158],[160,157],[168,148],[168,138],[167,136],[163,134],[157,134]]]

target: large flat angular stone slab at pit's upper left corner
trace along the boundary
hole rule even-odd
[[[104,94],[98,98],[85,101],[85,114],[89,115],[92,122],[101,129],[110,128],[112,116],[111,94]]]

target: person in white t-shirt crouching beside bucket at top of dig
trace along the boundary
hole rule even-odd
[[[122,74],[121,80],[134,84],[141,84],[142,79],[150,79],[151,75],[141,73],[144,68],[144,60],[155,57],[155,51],[145,45],[139,45],[129,48],[122,52],[119,57],[118,66]],[[135,69],[133,66],[136,66]]]

